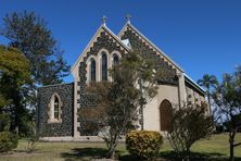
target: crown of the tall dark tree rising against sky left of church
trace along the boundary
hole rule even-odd
[[[7,14],[1,35],[10,40],[10,46],[21,50],[29,60],[31,75],[36,84],[49,85],[63,82],[69,66],[63,60],[63,51],[56,46],[47,23],[34,12]]]

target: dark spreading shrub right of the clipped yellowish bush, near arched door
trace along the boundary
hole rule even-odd
[[[199,139],[213,133],[212,116],[206,113],[207,106],[185,103],[173,110],[170,129],[167,138],[177,153],[190,152],[191,146]]]

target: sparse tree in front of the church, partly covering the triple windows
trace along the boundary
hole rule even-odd
[[[143,59],[138,52],[125,54],[110,71],[113,82],[91,83],[87,88],[88,94],[94,96],[97,107],[80,109],[79,116],[99,129],[110,158],[114,158],[119,138],[135,128],[132,123],[138,121],[138,107],[157,92],[155,83],[161,72],[154,70],[154,61]],[[138,84],[140,78],[142,88]]]

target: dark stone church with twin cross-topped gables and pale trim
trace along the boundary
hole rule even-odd
[[[37,132],[41,140],[101,140],[96,133],[85,129],[78,117],[79,108],[93,103],[85,88],[90,82],[111,81],[107,69],[124,54],[139,51],[144,57],[158,60],[158,67],[166,76],[160,78],[158,91],[140,114],[142,129],[166,132],[173,104],[183,102],[200,104],[205,101],[205,91],[158,47],[141,34],[127,16],[126,24],[116,35],[106,26],[106,17],[79,54],[71,69],[74,83],[49,85],[38,88]]]

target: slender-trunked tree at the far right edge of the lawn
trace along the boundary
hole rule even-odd
[[[228,123],[230,160],[233,160],[233,149],[241,146],[236,143],[236,134],[241,128],[241,66],[233,74],[224,75],[213,98],[221,121]]]

